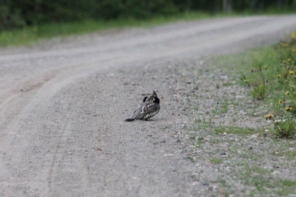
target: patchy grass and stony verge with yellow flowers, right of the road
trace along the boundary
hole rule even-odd
[[[296,113],[292,110],[293,99],[296,97],[294,96],[296,92],[296,50],[294,55],[294,48],[296,48],[296,41],[294,43],[292,39],[291,42],[251,49],[213,60],[215,67],[223,68],[226,73],[231,73],[231,76],[235,76],[234,72],[236,72],[237,82],[233,84],[224,81],[225,86],[250,86],[250,93],[246,96],[250,97],[247,100],[254,110],[253,113],[251,110],[246,110],[249,109],[248,104],[242,104],[246,98],[232,100],[231,96],[218,99],[213,96],[211,99],[216,99],[218,102],[213,103],[211,106],[213,110],[207,114],[207,118],[202,118],[204,114],[201,113],[199,118],[193,119],[191,125],[187,124],[189,138],[190,135],[194,135],[190,143],[199,148],[191,155],[200,167],[209,164],[214,166],[215,174],[211,179],[209,178],[209,182],[219,184],[216,191],[220,196],[296,194],[296,142],[293,138],[296,130],[293,123]],[[290,71],[293,73],[290,74]],[[287,76],[284,77],[285,75]],[[257,88],[256,85],[257,90],[254,89]],[[294,86],[295,89],[293,89]],[[289,94],[286,94],[287,91]],[[200,108],[202,107],[204,106],[200,105]],[[243,116],[238,115],[240,110],[245,112]],[[231,113],[232,120],[225,123],[215,122],[217,119],[219,121],[220,117],[223,118],[221,113],[226,113],[225,115]],[[266,113],[271,117],[269,118]],[[267,121],[264,120],[264,116],[267,117]],[[262,127],[232,125],[240,122],[242,118],[249,120],[258,119],[258,117]],[[284,121],[281,121],[282,119]],[[266,129],[269,131],[265,132]],[[282,133],[283,131],[286,132]],[[251,136],[255,133],[258,135]],[[196,136],[202,140],[197,141]],[[230,179],[235,180],[237,185],[228,184],[226,180]]]

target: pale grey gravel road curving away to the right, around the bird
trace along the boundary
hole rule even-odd
[[[191,178],[198,166],[174,136],[202,119],[184,95],[232,91],[215,88],[223,69],[215,82],[194,71],[206,69],[202,57],[270,45],[295,28],[296,15],[234,17],[0,49],[0,196],[223,195],[206,188],[210,164]],[[153,90],[153,121],[124,122]]]

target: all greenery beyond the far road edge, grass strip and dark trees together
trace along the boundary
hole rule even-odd
[[[2,0],[0,47],[110,28],[147,27],[177,20],[295,13],[296,0]],[[223,85],[231,85],[225,83]]]

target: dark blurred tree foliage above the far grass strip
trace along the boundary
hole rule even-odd
[[[190,11],[295,10],[296,0],[0,0],[0,31],[52,22],[146,19]]]

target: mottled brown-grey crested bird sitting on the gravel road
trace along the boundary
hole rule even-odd
[[[157,94],[153,91],[152,95],[148,98],[144,98],[143,103],[133,112],[129,118],[125,119],[127,122],[133,120],[147,120],[155,116],[160,110],[160,100],[157,98]]]

